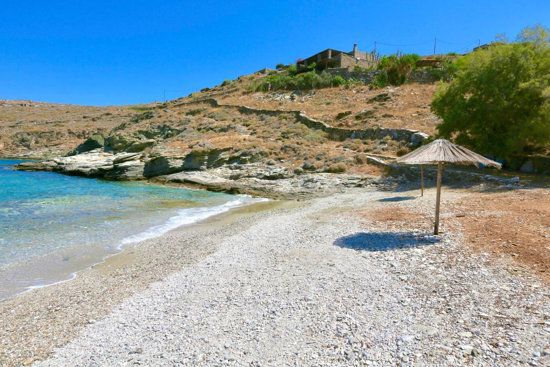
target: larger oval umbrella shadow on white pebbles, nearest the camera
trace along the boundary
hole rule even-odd
[[[363,251],[410,249],[438,243],[439,238],[427,233],[361,232],[337,238],[334,245]]]

